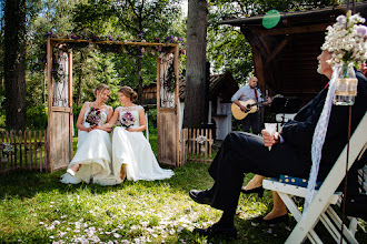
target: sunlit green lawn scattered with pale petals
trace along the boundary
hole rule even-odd
[[[292,218],[289,225],[274,227],[251,221],[271,209],[269,191],[262,199],[240,196],[235,218],[238,240],[207,240],[191,233],[221,215],[188,196],[190,189],[212,184],[208,166],[188,162],[169,180],[117,186],[65,185],[59,182],[65,171],[1,175],[0,243],[284,243],[296,224]],[[323,236],[325,230],[319,230]],[[367,243],[363,230],[357,240]]]

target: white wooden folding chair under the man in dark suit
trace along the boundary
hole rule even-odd
[[[365,113],[358,128],[350,138],[348,169],[350,169],[350,166],[356,161],[357,156],[363,151],[364,146],[366,146],[366,144],[367,113]],[[329,174],[323,182],[320,189],[315,192],[315,197],[311,201],[305,216],[301,215],[301,212],[298,210],[292,197],[305,197],[307,190],[306,187],[280,183],[275,180],[264,180],[264,189],[276,191],[286,204],[289,212],[298,222],[290,235],[288,236],[286,243],[301,243],[306,237],[308,237],[311,243],[323,243],[323,241],[319,238],[319,236],[314,230],[318,221],[321,221],[321,223],[325,225],[325,227],[328,230],[335,241],[340,243],[341,236],[339,230],[341,226],[341,220],[333,210],[331,204],[338,203],[340,199],[339,196],[341,195],[341,193],[336,192],[336,190],[345,176],[346,159],[347,146],[343,150]],[[343,227],[343,243],[346,243],[346,240],[349,243],[358,243],[358,241],[355,238],[356,227],[357,222],[355,218],[350,221],[349,227]]]

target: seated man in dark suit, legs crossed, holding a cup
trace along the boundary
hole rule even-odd
[[[333,69],[327,63],[331,58],[328,51],[323,51],[317,58],[318,72],[331,79]],[[356,129],[367,109],[367,80],[357,72],[358,94],[353,105],[351,131]],[[308,179],[311,167],[313,135],[324,108],[328,88],[325,88],[288,121],[282,131],[270,136],[262,131],[262,138],[232,132],[225,139],[219,152],[209,167],[209,174],[215,180],[212,187],[205,191],[190,191],[190,197],[200,204],[222,210],[219,222],[208,228],[196,228],[200,235],[226,235],[235,237],[234,226],[238,199],[244,181],[244,173],[257,173],[269,177],[280,174]],[[318,180],[324,180],[334,162],[347,143],[349,106],[333,105],[329,125],[325,138],[319,166]],[[269,151],[267,146],[271,146]],[[276,195],[272,211],[267,215],[272,220],[288,217],[287,210]],[[269,222],[268,222],[269,223]]]

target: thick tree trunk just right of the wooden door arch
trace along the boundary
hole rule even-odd
[[[208,9],[206,0],[189,0],[184,112],[185,128],[200,128],[201,122],[205,122],[207,17]]]

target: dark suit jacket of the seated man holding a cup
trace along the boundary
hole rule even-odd
[[[351,106],[351,133],[366,113],[367,79],[361,72],[356,72],[358,79],[357,96]],[[313,136],[321,114],[328,88],[323,89],[308,104],[288,121],[281,131],[285,143],[289,143],[302,154],[304,160],[311,161]],[[338,159],[348,142],[349,106],[333,105],[325,143],[321,152],[319,179],[324,179]],[[367,135],[366,135],[367,136]]]

